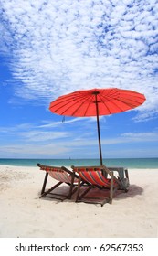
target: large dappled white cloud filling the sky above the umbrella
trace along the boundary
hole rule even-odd
[[[1,6],[1,51],[12,52],[16,96],[48,102],[82,88],[119,87],[145,94],[137,119],[157,114],[156,0],[1,0]]]

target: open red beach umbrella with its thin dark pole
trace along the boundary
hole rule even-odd
[[[125,112],[142,105],[144,101],[144,95],[136,91],[117,88],[95,88],[91,90],[74,91],[60,96],[57,100],[50,103],[49,110],[65,116],[97,117],[100,165],[102,165],[99,116]]]

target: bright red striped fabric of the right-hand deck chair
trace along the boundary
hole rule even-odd
[[[103,176],[101,166],[71,166],[74,172],[88,183],[103,187],[111,187],[111,179]]]

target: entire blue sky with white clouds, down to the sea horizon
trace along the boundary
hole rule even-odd
[[[49,112],[90,88],[142,106],[100,118],[102,155],[158,157],[157,0],[0,0],[0,157],[99,158],[95,118]]]

